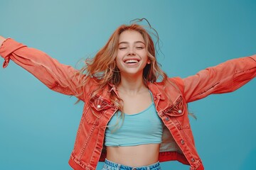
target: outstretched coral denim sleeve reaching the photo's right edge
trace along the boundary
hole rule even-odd
[[[186,102],[196,101],[210,94],[235,91],[256,77],[256,55],[228,60],[215,67],[208,67],[196,75],[176,79],[183,89]]]

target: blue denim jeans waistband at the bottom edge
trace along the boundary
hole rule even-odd
[[[122,164],[117,164],[105,159],[102,170],[161,170],[159,162],[147,166],[132,167]]]

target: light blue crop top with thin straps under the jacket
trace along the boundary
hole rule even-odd
[[[117,119],[119,120],[118,124]],[[122,121],[118,111],[107,125],[106,146],[119,147],[161,143],[163,122],[156,113],[154,102],[140,113],[133,115],[124,113],[124,121]]]

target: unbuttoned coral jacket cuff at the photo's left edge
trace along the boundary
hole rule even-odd
[[[7,67],[10,61],[10,54],[21,47],[26,47],[26,45],[16,42],[11,38],[7,38],[1,45],[0,55],[4,58],[3,68]]]

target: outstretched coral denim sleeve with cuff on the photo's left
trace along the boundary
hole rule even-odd
[[[60,64],[46,53],[26,47],[11,38],[6,39],[1,45],[0,55],[4,58],[4,68],[11,59],[46,84],[49,89],[61,94],[76,96],[84,101],[80,82],[85,76],[73,67]]]

